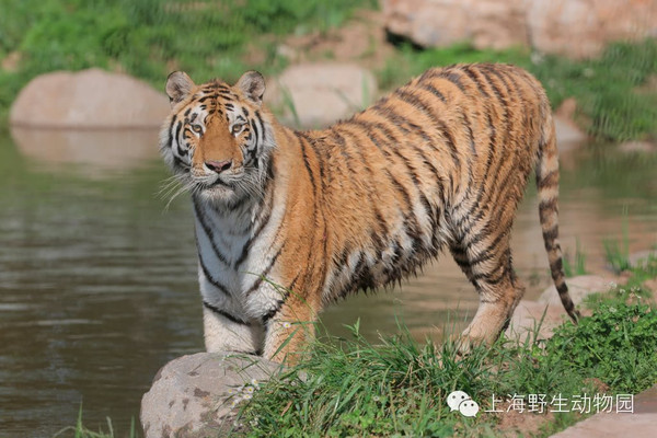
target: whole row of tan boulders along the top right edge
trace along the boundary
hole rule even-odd
[[[574,58],[618,39],[657,36],[657,0],[383,0],[389,32],[420,46],[531,45]]]

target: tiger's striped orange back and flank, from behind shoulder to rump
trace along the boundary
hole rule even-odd
[[[479,229],[474,222],[493,219],[498,200],[506,208],[495,228],[505,230],[537,161],[538,120],[549,114],[540,85],[523,70],[454,66],[429,70],[349,120],[301,136],[314,152],[310,171],[333,206],[328,253],[343,255],[334,265],[383,262],[374,274],[361,262],[357,277],[372,277],[372,286],[396,280],[445,243],[465,239]],[[330,281],[325,293],[348,289]]]

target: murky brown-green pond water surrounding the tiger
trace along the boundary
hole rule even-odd
[[[203,349],[191,205],[158,197],[169,176],[155,132],[0,134],[0,436],[49,437],[82,405],[92,429],[138,424],[141,395],[170,359]],[[604,239],[657,243],[657,159],[587,147],[563,157],[562,246],[603,270]],[[548,261],[530,188],[514,232],[516,269],[535,298]],[[401,288],[351,297],[328,332],[360,319],[376,339],[402,320],[440,338],[476,309],[449,256]],[[106,429],[106,428],[105,428]]]

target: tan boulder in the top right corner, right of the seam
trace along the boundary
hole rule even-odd
[[[531,44],[540,51],[585,58],[609,42],[657,36],[657,0],[529,0]]]

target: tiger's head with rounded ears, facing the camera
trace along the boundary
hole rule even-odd
[[[245,72],[234,85],[196,85],[182,71],[166,80],[172,114],[160,151],[184,189],[205,201],[237,205],[262,194],[275,147],[272,116],[263,107],[265,80]]]

